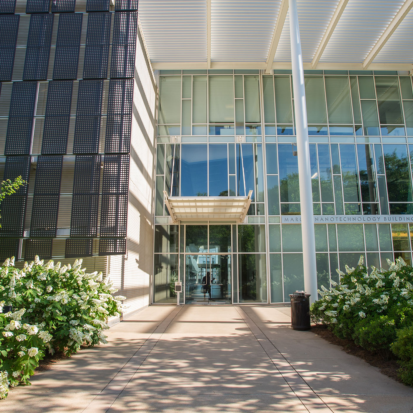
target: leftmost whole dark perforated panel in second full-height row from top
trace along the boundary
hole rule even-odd
[[[37,82],[13,82],[5,155],[30,154]]]

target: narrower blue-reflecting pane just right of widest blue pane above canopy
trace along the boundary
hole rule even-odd
[[[228,196],[227,145],[209,145],[209,196]]]

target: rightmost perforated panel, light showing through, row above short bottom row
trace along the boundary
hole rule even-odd
[[[129,155],[105,155],[103,163],[101,237],[126,237]]]

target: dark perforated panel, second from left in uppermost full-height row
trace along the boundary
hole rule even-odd
[[[23,80],[47,79],[53,17],[53,14],[32,14],[30,16]]]

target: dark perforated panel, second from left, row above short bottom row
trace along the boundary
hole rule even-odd
[[[31,211],[31,237],[56,236],[62,164],[62,156],[38,157]]]

